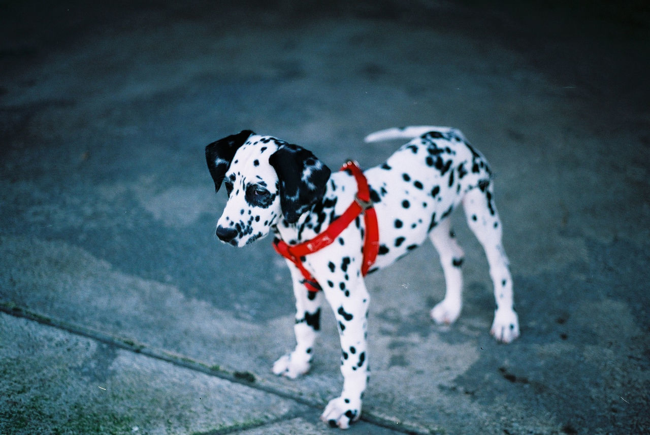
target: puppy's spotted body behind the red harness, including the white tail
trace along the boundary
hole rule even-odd
[[[489,182],[489,168],[463,134],[450,127],[404,127],[369,134],[366,142],[411,139],[386,162],[365,171],[382,233],[374,269],[421,245],[465,193]]]

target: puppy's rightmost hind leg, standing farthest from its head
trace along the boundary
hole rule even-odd
[[[502,343],[519,336],[519,319],[514,310],[512,276],[501,244],[501,222],[494,203],[492,184],[480,184],[463,198],[467,224],[486,252],[496,301],[490,333]]]

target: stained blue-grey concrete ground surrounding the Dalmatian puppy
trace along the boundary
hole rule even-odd
[[[497,345],[467,253],[451,327],[424,246],[370,275],[372,377],[350,433],[650,430],[650,11],[574,1],[0,3],[0,433],[324,434],[268,240],[218,243],[203,147],[241,129],[337,168],[398,125],[489,159],[522,336]]]

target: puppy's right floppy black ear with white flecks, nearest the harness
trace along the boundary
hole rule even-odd
[[[287,143],[273,153],[268,162],[276,170],[280,183],[280,206],[289,223],[322,199],[330,179],[330,168],[298,145]]]

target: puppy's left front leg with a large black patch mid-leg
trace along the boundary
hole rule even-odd
[[[320,306],[322,292],[309,292],[302,284],[302,274],[296,266],[287,261],[291,271],[293,293],[296,297],[296,348],[281,356],[273,364],[273,373],[290,379],[304,375],[311,367],[313,345],[320,330]]]

